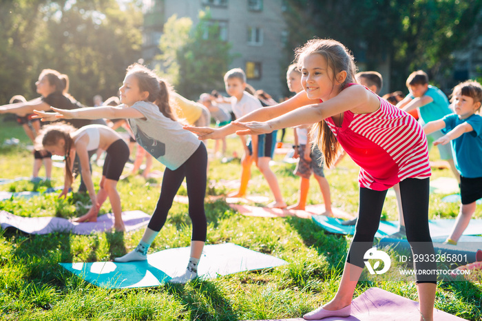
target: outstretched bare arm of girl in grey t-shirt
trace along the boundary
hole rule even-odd
[[[121,105],[123,106],[123,105]],[[42,121],[56,121],[59,118],[65,119],[118,119],[118,118],[144,118],[144,115],[131,107],[106,106],[106,107],[85,107],[76,110],[61,110],[59,108],[50,107],[52,112],[41,112],[34,110],[35,118],[41,118]]]

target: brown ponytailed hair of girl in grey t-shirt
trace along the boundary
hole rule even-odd
[[[129,65],[127,74],[136,76],[141,92],[149,92],[147,101],[156,104],[164,116],[173,121],[177,121],[176,115],[172,112],[171,105],[169,105],[169,92],[171,88],[166,81],[160,79],[156,73],[149,68],[138,63]]]

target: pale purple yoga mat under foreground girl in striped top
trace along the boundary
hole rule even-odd
[[[419,302],[398,296],[397,294],[379,289],[377,287],[366,290],[362,295],[353,300],[351,315],[347,318],[324,318],[323,321],[408,321],[419,320]],[[295,319],[272,319],[263,321],[302,321]],[[455,315],[434,309],[434,320],[457,321],[465,320]],[[260,320],[261,321],[261,320]]]

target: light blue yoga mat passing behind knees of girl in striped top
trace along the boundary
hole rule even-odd
[[[342,225],[343,220],[339,218],[331,218],[328,216],[313,216],[313,222],[322,229],[330,233],[335,234],[354,234],[355,233],[355,226],[346,226]],[[439,220],[429,220],[429,228],[430,228],[430,236],[432,238],[437,236],[448,236],[450,231],[452,231],[452,227],[455,224],[455,219],[439,219]],[[375,234],[376,238],[384,238],[385,236],[390,236],[394,234],[399,227],[398,221],[380,221],[380,225]],[[472,218],[470,220],[469,226],[463,232],[464,235],[479,235],[482,234],[482,219],[480,218]]]

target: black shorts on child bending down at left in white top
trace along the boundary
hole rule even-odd
[[[124,165],[129,160],[129,147],[122,139],[114,141],[105,151],[104,167],[102,176],[109,180],[119,180],[124,169]]]

